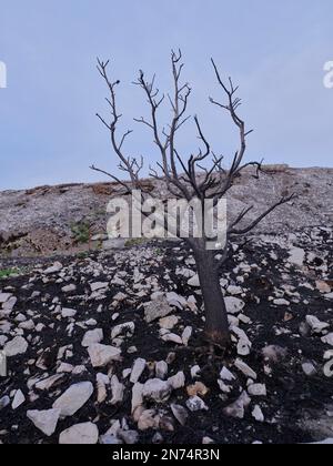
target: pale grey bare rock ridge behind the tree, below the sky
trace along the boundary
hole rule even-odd
[[[165,197],[162,182],[148,180],[147,186]],[[255,216],[281,195],[293,192],[299,197],[263,222],[261,232],[332,225],[333,169],[266,166],[260,180],[246,172],[230,193],[229,212],[232,215],[253,204],[251,215]],[[0,254],[17,257],[100,247],[105,240],[105,206],[120,194],[122,189],[112,183],[0,192]],[[89,239],[95,241],[89,244]]]

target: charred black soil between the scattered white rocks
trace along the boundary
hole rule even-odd
[[[289,262],[291,244],[304,252],[303,265]],[[122,371],[131,368],[138,357],[147,362],[165,361],[174,353],[174,361],[169,364],[169,376],[180,371],[185,374],[185,387],[172,392],[165,403],[147,402],[147,408],[171,416],[170,404],[185,406],[189,395],[186,387],[195,381],[191,377],[191,367],[199,365],[199,381],[209,389],[203,396],[208,411],[189,412],[185,426],[173,418],[173,432],[163,428],[139,432],[139,443],[150,444],[159,432],[165,444],[201,444],[210,437],[216,444],[295,444],[322,440],[333,437],[333,378],[323,373],[326,363],[324,354],[332,350],[322,337],[333,331],[332,296],[320,291],[317,281],[327,286],[333,284],[333,234],[331,229],[312,229],[297,232],[293,237],[255,237],[240,249],[229,261],[221,277],[228,283],[223,286],[239,285],[242,294],[236,297],[245,303],[242,314],[251,323],[240,323],[240,327],[252,342],[248,356],[236,354],[236,345],[229,354],[216,352],[212,355],[201,340],[203,311],[198,288],[188,284],[188,277],[179,270],[193,269],[191,252],[183,245],[151,243],[130,250],[92,253],[84,257],[57,257],[62,263],[61,272],[46,274],[53,260],[14,260],[3,261],[1,267],[24,267],[23,275],[0,281],[0,292],[11,293],[18,298],[9,316],[0,317],[0,336],[11,340],[22,334],[29,343],[26,354],[9,358],[9,374],[0,378],[0,398],[12,398],[14,391],[21,389],[26,402],[17,409],[11,405],[0,411],[0,440],[3,444],[57,444],[59,434],[74,424],[93,422],[100,435],[104,434],[115,419],[125,419],[128,427],[138,430],[131,416],[132,384],[122,377]],[[190,259],[190,261],[189,261]],[[240,267],[241,265],[241,267]],[[133,276],[135,270],[142,275]],[[120,274],[120,275],[119,275]],[[123,284],[112,283],[123,277]],[[91,296],[90,284],[109,282],[108,290],[100,296]],[[64,293],[65,284],[74,284],[75,291]],[[137,286],[139,284],[139,286]],[[139,295],[144,290],[145,295]],[[153,292],[175,292],[186,300],[195,296],[198,310],[174,308],[172,315],[179,323],[172,330],[180,335],[184,327],[193,327],[189,346],[165,343],[161,340],[159,321],[148,324],[141,304],[151,301]],[[36,293],[38,292],[38,293]],[[127,297],[112,307],[113,297],[122,292]],[[34,294],[33,294],[34,293]],[[228,295],[228,291],[225,291]],[[73,318],[61,318],[57,313],[54,297],[62,307],[78,311]],[[278,305],[272,300],[284,298],[289,304]],[[1,305],[0,305],[1,306]],[[1,313],[1,311],[0,311]],[[114,313],[119,317],[113,321]],[[34,328],[20,330],[18,315],[32,320]],[[304,323],[307,315],[330,324],[322,334],[314,334]],[[1,316],[1,314],[0,314]],[[121,345],[122,361],[109,367],[95,369],[90,363],[87,348],[81,341],[91,330],[88,320],[97,321],[97,328],[102,328],[103,344],[111,344],[110,332],[114,325],[134,322],[135,332],[125,337]],[[4,324],[10,324],[10,330]],[[42,331],[36,326],[43,324]],[[71,325],[71,328],[69,327]],[[268,345],[279,345],[287,350],[287,355],[278,363],[264,361],[262,350]],[[63,377],[49,391],[41,392],[27,386],[32,378],[41,379],[54,375],[59,367],[58,352],[69,347],[71,354],[62,362],[72,366],[85,367],[80,375],[63,374]],[[135,353],[128,350],[135,346]],[[0,346],[1,350],[1,346]],[[43,358],[43,368],[38,359]],[[234,367],[234,361],[241,357],[256,374],[258,383],[266,385],[266,396],[253,397],[243,419],[235,419],[223,414],[223,408],[236,401],[241,389],[246,389],[246,377]],[[333,358],[333,356],[331,357]],[[305,375],[302,364],[311,362],[316,374]],[[225,397],[218,385],[223,366],[235,375],[231,393]],[[152,378],[148,365],[140,382]],[[97,391],[73,416],[59,421],[51,437],[43,435],[27,417],[28,409],[50,409],[70,385],[90,381],[95,386],[99,372],[117,374],[124,384],[122,403],[112,406],[109,395],[103,403],[98,403]],[[256,422],[252,416],[253,406],[259,405],[264,422]],[[331,434],[331,435],[330,435]]]

